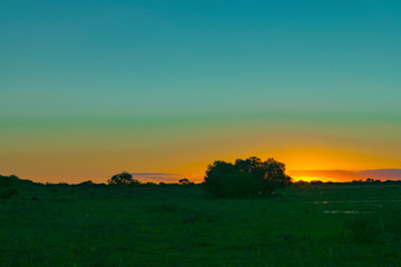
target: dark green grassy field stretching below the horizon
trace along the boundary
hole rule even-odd
[[[401,266],[400,192],[25,187],[0,199],[0,266]]]

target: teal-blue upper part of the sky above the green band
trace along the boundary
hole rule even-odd
[[[399,1],[1,1],[0,111],[399,111],[400,13]]]

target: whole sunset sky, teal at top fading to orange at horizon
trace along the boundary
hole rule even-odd
[[[400,1],[0,0],[0,34],[1,175],[401,169]]]

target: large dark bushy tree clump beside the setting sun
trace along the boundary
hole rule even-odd
[[[273,158],[237,159],[235,164],[215,161],[206,170],[204,189],[214,197],[270,196],[275,188],[285,187],[291,177],[285,165]]]

